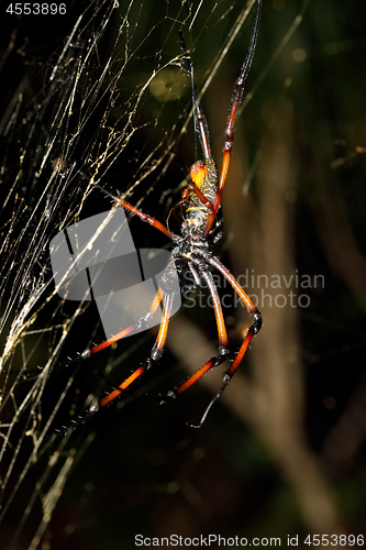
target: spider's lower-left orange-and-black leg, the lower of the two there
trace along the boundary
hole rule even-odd
[[[160,290],[160,289],[159,289]],[[155,297],[155,304],[154,308],[155,311],[162,300],[163,297],[163,290],[162,290],[162,297],[158,300],[157,296],[159,295],[159,292],[157,293]],[[173,299],[174,299],[174,294],[165,294],[164,295],[164,301],[163,301],[163,317],[162,317],[162,322],[159,326],[159,331],[156,338],[156,342],[154,344],[154,348],[152,349],[151,355],[146,361],[138,366],[122,384],[120,384],[115,389],[113,389],[110,394],[106,395],[99,402],[99,409],[108,405],[109,403],[113,402],[117,397],[119,397],[124,389],[126,389],[135,380],[137,380],[144,372],[146,372],[148,369],[153,366],[154,363],[157,363],[163,354],[167,332],[168,332],[168,324],[169,324],[169,317],[170,317],[170,311],[171,311],[171,306],[173,306]],[[157,304],[157,305],[156,305]],[[154,309],[153,308],[153,309]],[[149,308],[148,312],[155,314],[153,311],[152,307]],[[109,344],[110,345],[110,344]],[[93,348],[91,349],[92,353]],[[99,350],[98,350],[99,351]]]

